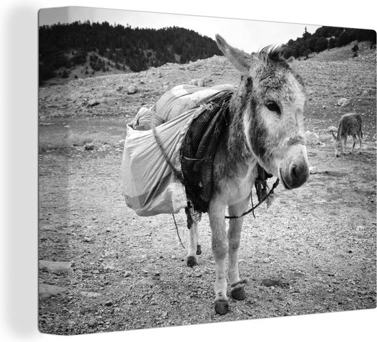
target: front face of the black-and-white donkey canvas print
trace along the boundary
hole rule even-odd
[[[376,308],[376,31],[38,16],[41,332]]]

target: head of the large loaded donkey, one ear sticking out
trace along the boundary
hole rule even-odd
[[[238,120],[245,148],[286,189],[309,176],[304,135],[304,94],[300,77],[282,58],[280,48],[266,47],[250,55],[216,36],[223,54],[241,72],[230,111]],[[243,148],[243,146],[239,146]]]

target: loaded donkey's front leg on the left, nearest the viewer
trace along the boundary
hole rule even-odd
[[[212,231],[212,254],[215,259],[215,311],[220,315],[228,313],[226,296],[226,257],[228,254],[228,238],[225,227],[225,205],[212,199],[208,210]]]

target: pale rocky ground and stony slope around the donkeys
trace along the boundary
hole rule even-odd
[[[375,308],[376,49],[361,46],[356,58],[347,51],[296,63],[306,81],[306,129],[319,137],[308,146],[313,174],[292,192],[278,187],[270,209],[245,219],[239,267],[250,280],[247,299],[230,299],[225,316],[213,309],[206,215],[203,253],[186,267],[171,215],[141,218],[128,209],[119,169],[125,124],[140,107],[182,83],[236,84],[236,71],[215,56],[40,88],[40,330],[82,334]],[[348,105],[337,105],[340,98]],[[328,128],[348,112],[363,115],[363,154],[335,158]],[[187,245],[184,213],[176,220]]]

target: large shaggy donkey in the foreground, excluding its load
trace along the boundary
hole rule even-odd
[[[216,36],[219,49],[241,73],[239,87],[229,103],[228,125],[217,146],[213,164],[213,189],[208,207],[215,259],[215,312],[228,312],[226,258],[230,294],[245,299],[245,280],[237,261],[243,218],[229,215],[247,210],[259,163],[277,176],[285,189],[303,185],[309,176],[304,135],[304,85],[282,57],[281,47],[265,47],[250,55]],[[198,218],[186,209],[191,224],[187,264],[195,265],[200,254]]]

